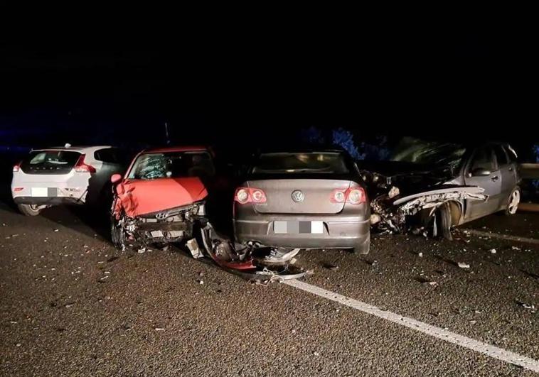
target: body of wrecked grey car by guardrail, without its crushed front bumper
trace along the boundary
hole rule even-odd
[[[373,166],[363,168],[373,170]],[[508,143],[440,143],[402,138],[390,160],[375,171],[390,176],[391,184],[405,195],[444,187],[484,189],[486,201],[464,200],[452,208],[452,225],[494,212],[515,214],[521,200],[517,155]]]

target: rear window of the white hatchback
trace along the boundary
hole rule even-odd
[[[73,151],[32,151],[23,160],[21,169],[25,173],[65,173],[79,157],[80,153]]]

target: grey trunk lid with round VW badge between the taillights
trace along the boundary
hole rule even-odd
[[[331,179],[274,179],[250,180],[247,186],[265,192],[266,202],[253,204],[255,210],[264,214],[336,214],[344,203],[331,202],[333,190],[346,190],[348,180]],[[296,193],[293,197],[294,192]]]

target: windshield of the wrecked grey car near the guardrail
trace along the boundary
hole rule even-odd
[[[421,165],[456,166],[465,152],[466,148],[460,144],[406,137],[397,145],[390,160]]]

